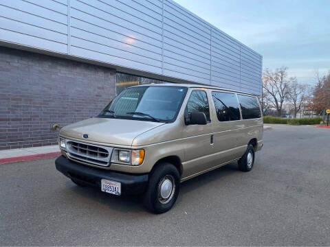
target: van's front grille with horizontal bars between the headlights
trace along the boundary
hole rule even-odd
[[[113,148],[83,143],[80,141],[66,140],[67,155],[72,160],[83,161],[92,165],[107,167]]]

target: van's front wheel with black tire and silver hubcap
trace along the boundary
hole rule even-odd
[[[180,175],[174,165],[159,163],[150,174],[148,188],[144,194],[146,209],[152,213],[165,213],[170,210],[179,194],[179,180]]]

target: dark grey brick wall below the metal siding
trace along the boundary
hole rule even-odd
[[[0,47],[0,150],[54,145],[52,124],[95,116],[113,97],[113,69]]]

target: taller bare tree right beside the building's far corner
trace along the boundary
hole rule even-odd
[[[281,117],[283,102],[289,94],[290,79],[287,78],[287,67],[281,67],[275,71],[265,69],[263,72],[263,91],[265,100],[270,107],[275,108]]]

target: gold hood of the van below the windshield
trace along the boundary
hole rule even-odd
[[[152,121],[93,117],[63,127],[60,135],[110,145],[132,145],[133,139],[139,134],[163,124]],[[84,134],[88,134],[88,138],[84,138]]]

